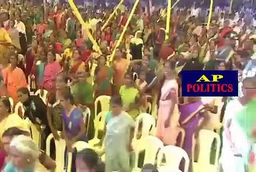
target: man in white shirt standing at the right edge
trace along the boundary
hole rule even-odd
[[[224,113],[224,130],[222,156],[219,158],[223,172],[245,172],[247,162],[247,152],[250,149],[250,143],[247,136],[243,133],[242,128],[235,120],[235,115],[242,110],[256,95],[255,77],[247,77],[243,81],[242,93],[243,97],[232,100],[227,104]]]

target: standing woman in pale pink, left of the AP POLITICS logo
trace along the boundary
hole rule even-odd
[[[156,136],[166,145],[175,145],[179,125],[178,83],[174,73],[174,66],[166,62],[163,66],[164,80],[161,86]]]

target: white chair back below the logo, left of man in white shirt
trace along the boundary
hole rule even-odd
[[[212,151],[212,143],[216,140],[216,153],[214,166],[218,163],[219,158],[219,148],[220,148],[220,138],[217,133],[211,130],[200,130],[199,131],[199,157],[198,163],[210,164],[210,156]]]

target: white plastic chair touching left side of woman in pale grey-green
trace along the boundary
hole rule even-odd
[[[100,142],[100,139],[98,138],[98,133],[100,130],[105,129],[105,117],[108,112],[100,112],[94,120],[94,127],[95,127],[95,133],[92,140],[89,140],[89,145],[93,148],[94,145],[98,144]]]

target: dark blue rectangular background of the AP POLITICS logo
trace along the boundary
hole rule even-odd
[[[212,75],[223,75],[219,82],[196,82],[202,75],[205,75],[212,81]],[[187,85],[204,85],[207,87],[209,84],[232,85],[232,92],[194,92],[187,90]],[[183,97],[231,97],[238,96],[238,71],[236,70],[194,70],[194,71],[181,71],[181,96]]]

